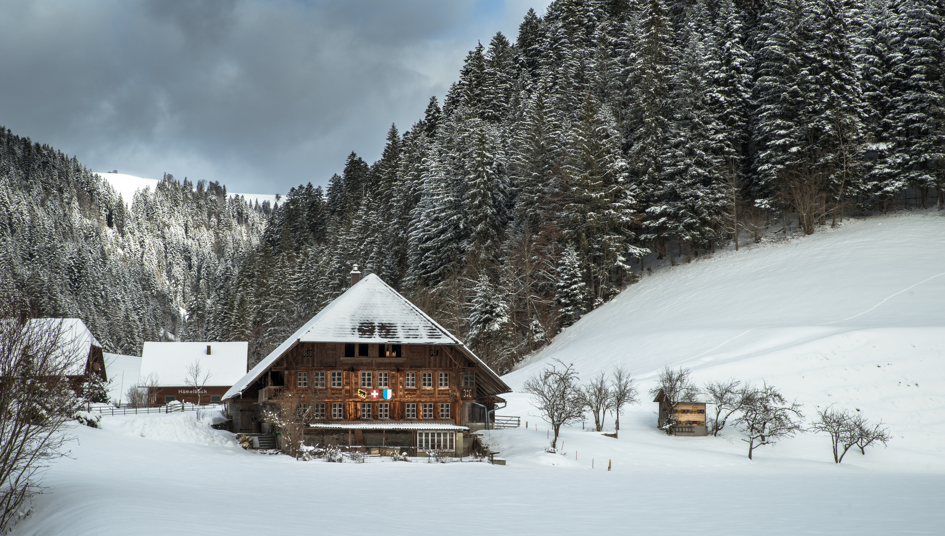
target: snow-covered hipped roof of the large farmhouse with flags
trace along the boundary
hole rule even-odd
[[[490,373],[499,385],[505,386],[498,375],[462,341],[390,288],[383,279],[376,274],[369,274],[320,310],[312,320],[272,350],[266,359],[259,361],[246,376],[233,384],[223,399],[242,393],[286,350],[299,342],[455,344]]]

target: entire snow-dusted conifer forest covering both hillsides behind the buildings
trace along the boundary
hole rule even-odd
[[[942,209],[943,69],[936,0],[558,0],[380,159],[271,206],[170,175],[122,199],[4,128],[0,295],[106,351],[249,341],[252,365],[357,264],[502,374],[644,259]]]

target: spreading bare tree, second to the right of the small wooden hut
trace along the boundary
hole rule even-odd
[[[763,444],[776,444],[785,437],[791,437],[801,431],[800,420],[804,416],[797,402],[788,403],[787,399],[773,386],[765,383],[760,388],[753,388],[748,394],[747,403],[736,421],[747,439],[748,460],[752,453]]]

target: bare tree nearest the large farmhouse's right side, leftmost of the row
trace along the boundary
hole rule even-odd
[[[565,365],[555,360],[539,374],[526,379],[522,386],[522,392],[532,395],[532,404],[555,430],[552,448],[558,447],[561,426],[576,423],[584,417],[578,379],[574,364]]]

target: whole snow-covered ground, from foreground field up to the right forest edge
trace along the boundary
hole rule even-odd
[[[506,377],[518,388],[557,358],[582,377],[625,364],[643,392],[666,364],[766,379],[808,414],[836,403],[889,425],[888,448],[841,465],[814,434],[754,461],[734,430],[667,437],[645,396],[620,439],[578,425],[561,455],[509,394],[500,413],[529,428],[487,432],[504,467],[294,461],[193,413],[105,417],[74,429],[73,458],[14,534],[942,534],[943,231],[935,211],[877,217],[659,271]]]

